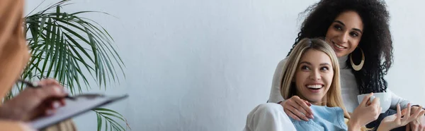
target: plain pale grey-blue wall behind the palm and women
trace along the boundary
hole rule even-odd
[[[27,1],[26,12],[41,1]],[[106,93],[130,98],[107,107],[132,130],[222,131],[242,130],[249,111],[266,102],[302,22],[298,13],[315,1],[75,0],[64,10],[116,17],[86,15],[111,33],[127,66],[127,79]],[[425,105],[425,1],[387,4],[395,47],[390,89]],[[74,120],[80,130],[96,130],[94,113]]]

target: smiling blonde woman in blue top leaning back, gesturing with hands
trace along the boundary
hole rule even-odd
[[[382,111],[379,99],[369,94],[349,114],[342,103],[339,63],[329,44],[321,39],[302,39],[288,56],[283,70],[281,94],[284,99],[300,97],[314,112],[312,119],[295,120],[279,104],[261,104],[249,113],[244,130],[368,130],[365,125]],[[410,106],[381,121],[378,130],[392,130],[423,116],[410,113]],[[403,116],[403,117],[402,117]]]

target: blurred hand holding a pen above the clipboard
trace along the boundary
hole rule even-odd
[[[65,105],[68,96],[64,87],[54,79],[41,80],[34,87],[23,89],[0,106],[0,118],[28,121],[40,116],[49,116]]]

